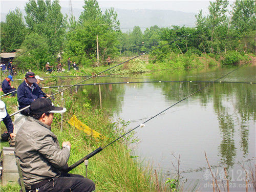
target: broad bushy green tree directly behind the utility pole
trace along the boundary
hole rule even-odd
[[[67,33],[66,57],[75,57],[79,63],[94,59],[97,35],[101,60],[116,54],[119,21],[114,9],[103,15],[95,0],[84,1],[83,9],[76,28]]]

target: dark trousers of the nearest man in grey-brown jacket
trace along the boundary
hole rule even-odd
[[[65,173],[61,174],[60,177],[50,179],[38,189],[39,192],[90,192],[95,190],[95,184],[92,180],[86,179],[81,175]],[[32,191],[36,191],[36,189],[33,189]]]

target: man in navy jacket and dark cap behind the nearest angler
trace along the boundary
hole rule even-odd
[[[41,89],[39,88],[38,84],[36,84],[36,82],[37,80],[33,72],[28,72],[25,75],[25,80],[22,82],[22,84],[19,85],[17,90],[19,110],[30,105],[35,99],[44,97],[44,94],[42,93]],[[28,116],[29,108],[20,113]]]

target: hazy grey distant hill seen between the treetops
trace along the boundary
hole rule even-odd
[[[107,8],[101,8],[104,13]],[[23,15],[25,10],[21,9]],[[78,19],[83,9],[73,9],[73,15]],[[123,32],[133,30],[134,26],[140,26],[141,30],[147,27],[157,25],[159,27],[170,27],[172,25],[194,27],[196,13],[185,13],[181,11],[172,10],[150,10],[150,9],[116,9],[118,19],[120,21],[120,28]],[[62,14],[70,14],[69,8],[61,8]],[[1,21],[5,21],[8,13],[1,13]]]

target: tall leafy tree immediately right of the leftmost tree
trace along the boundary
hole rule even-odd
[[[49,52],[56,55],[62,50],[67,18],[63,17],[58,0],[30,0],[26,3],[26,23],[31,33],[48,39]]]

